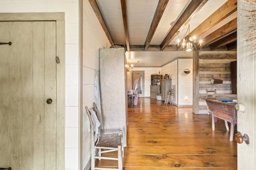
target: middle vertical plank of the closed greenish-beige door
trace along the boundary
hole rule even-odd
[[[32,22],[22,22],[21,24],[21,75],[22,75],[22,110],[21,110],[21,121],[26,124],[26,126],[21,127],[21,169],[32,169],[32,142],[33,142],[33,55],[32,55]]]

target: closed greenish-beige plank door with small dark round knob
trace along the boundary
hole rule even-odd
[[[0,167],[54,170],[56,22],[0,22],[0,41]]]

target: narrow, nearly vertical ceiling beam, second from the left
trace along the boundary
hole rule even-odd
[[[122,7],[122,15],[123,15],[123,21],[124,21],[124,34],[125,34],[126,48],[127,48],[127,51],[130,51],[126,0],[121,0],[121,7]]]

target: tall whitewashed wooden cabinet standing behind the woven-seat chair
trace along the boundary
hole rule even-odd
[[[102,133],[123,131],[128,125],[127,69],[124,48],[100,49],[100,100]]]

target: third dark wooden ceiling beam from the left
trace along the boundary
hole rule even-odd
[[[150,25],[149,31],[148,31],[148,36],[146,38],[146,41],[144,43],[144,51],[147,51],[148,46],[152,40],[152,37],[156,31],[156,28],[158,26],[158,23],[161,20],[162,15],[164,14],[164,10],[168,4],[169,0],[159,0],[158,5],[156,7],[156,12],[154,14],[154,18],[152,20],[152,23]]]

